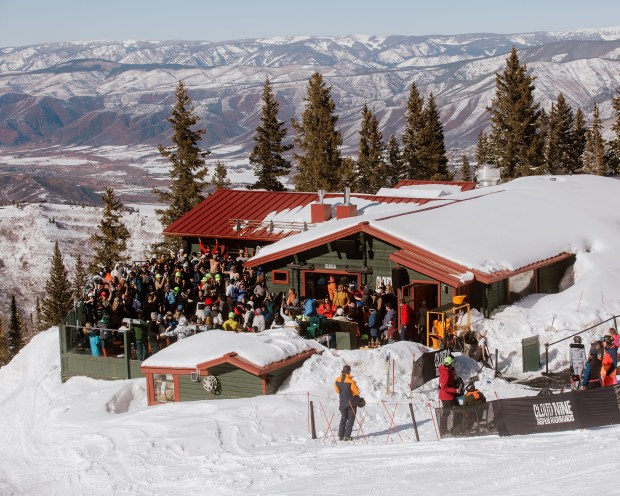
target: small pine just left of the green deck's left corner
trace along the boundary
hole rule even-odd
[[[43,323],[46,328],[60,324],[71,310],[71,289],[67,269],[56,241],[43,300]]]

